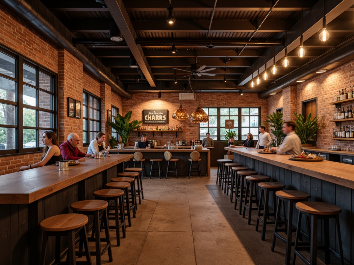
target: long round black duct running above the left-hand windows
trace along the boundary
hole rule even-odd
[[[74,47],[74,35],[51,13],[40,1],[2,0],[12,13],[38,31],[58,48],[66,49],[78,58],[84,69],[101,82],[112,87],[113,92],[123,98],[131,99],[132,94],[125,90],[124,84],[108,71],[108,69],[84,46]]]

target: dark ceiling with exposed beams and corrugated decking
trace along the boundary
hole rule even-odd
[[[325,14],[330,39],[319,40],[324,0],[171,0],[176,22],[170,25],[168,0],[42,0],[75,36],[74,44],[85,45],[130,91],[181,90],[195,60],[215,76],[192,75],[194,88],[203,91],[246,90],[261,92],[270,84],[354,36],[354,0],[327,0]],[[306,55],[297,55],[301,35]],[[261,27],[258,25],[264,20]],[[118,28],[121,42],[109,39]],[[290,65],[282,66],[286,46]],[[173,35],[173,39],[172,39]],[[178,49],[171,53],[172,42]],[[207,46],[214,48],[207,48]],[[129,67],[133,55],[141,73]],[[275,56],[278,71],[271,74]],[[265,62],[267,80],[251,88]],[[335,67],[335,65],[329,65]],[[182,70],[176,70],[179,68]],[[309,79],[315,71],[303,78]],[[227,82],[224,82],[224,76]],[[177,79],[177,84],[173,81]],[[288,84],[289,85],[289,84]]]

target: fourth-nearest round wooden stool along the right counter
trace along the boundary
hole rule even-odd
[[[258,198],[257,198],[257,188],[259,182],[268,182],[270,177],[268,176],[246,176],[246,194],[245,194],[245,203],[244,203],[244,212],[242,213],[242,218],[245,218],[246,209],[248,210],[248,221],[247,224],[251,224],[251,215],[252,210],[258,210]],[[257,208],[253,208],[253,191],[255,192],[255,201]],[[248,198],[248,200],[247,200]],[[247,205],[248,202],[248,205]]]

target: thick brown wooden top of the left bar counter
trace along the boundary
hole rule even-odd
[[[86,158],[68,171],[50,165],[0,176],[0,204],[30,204],[74,183],[107,170],[131,154],[111,154],[102,159]]]

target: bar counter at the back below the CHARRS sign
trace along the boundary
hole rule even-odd
[[[172,158],[178,158],[178,176],[185,177],[188,176],[189,173],[189,161],[190,153],[197,151],[200,153],[200,171],[202,176],[210,176],[210,149],[203,148],[201,150],[194,150],[191,148],[178,148],[178,149],[161,149],[161,148],[151,148],[151,149],[132,149],[132,148],[124,148],[124,149],[110,149],[110,153],[120,153],[120,154],[134,154],[135,152],[141,152],[143,154],[143,158],[145,158],[145,167],[147,175],[150,174],[151,162],[149,159],[163,159],[161,162],[162,170],[164,172],[164,176],[166,176],[166,168],[167,162],[164,158],[164,153],[168,151],[171,152]],[[133,166],[134,162],[130,162]],[[138,164],[137,166],[140,166]],[[174,165],[172,165],[174,167]],[[193,165],[195,167],[195,165]],[[196,176],[197,173],[194,173],[193,176]],[[155,173],[156,176],[156,173]],[[173,176],[173,173],[169,173],[169,176]]]

